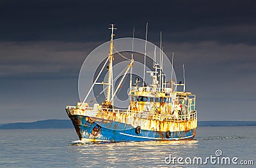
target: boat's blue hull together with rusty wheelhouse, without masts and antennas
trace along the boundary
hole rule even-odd
[[[132,92],[136,95],[136,90]],[[191,140],[197,127],[195,98],[189,99],[190,93],[180,95],[183,96],[177,99],[175,106],[168,102],[171,96],[167,96],[170,99],[163,97],[166,102],[150,102],[150,97],[147,102],[138,101],[136,96],[137,99],[131,101],[129,110],[102,108],[99,104],[95,104],[93,108],[81,107],[81,103],[78,103],[77,106],[67,106],[66,111],[79,139],[84,141]],[[181,111],[177,109],[180,104]]]

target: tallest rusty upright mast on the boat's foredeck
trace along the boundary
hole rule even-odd
[[[113,65],[113,37],[115,36],[114,34],[114,24],[111,24],[111,27],[109,28],[111,29],[111,42],[110,42],[110,46],[109,46],[109,62],[108,62],[108,95],[107,95],[107,101],[110,101],[110,92],[113,95],[113,71],[112,71],[112,65]],[[112,90],[111,90],[112,88]],[[113,104],[113,103],[112,103]]]

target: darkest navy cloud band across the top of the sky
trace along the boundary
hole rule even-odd
[[[177,42],[255,41],[255,1],[1,1],[1,41],[104,41],[108,24],[116,37]],[[169,36],[168,36],[169,35]]]

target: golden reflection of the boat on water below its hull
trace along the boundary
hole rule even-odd
[[[71,144],[74,153],[79,153],[76,165],[110,167],[138,167],[143,165],[163,166],[164,157],[196,153],[198,141],[150,141],[121,143],[80,143]],[[84,165],[85,166],[85,165]],[[166,165],[164,165],[166,166]]]

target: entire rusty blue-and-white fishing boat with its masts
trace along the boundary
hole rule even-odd
[[[134,59],[132,58],[127,65],[124,76],[114,90],[113,24],[110,29],[108,58],[102,66],[102,69],[108,68],[108,82],[97,81],[102,73],[101,69],[84,101],[77,102],[76,106],[66,107],[67,115],[72,120],[79,139],[93,142],[192,140],[197,127],[196,96],[185,91],[185,81],[175,83],[173,79],[166,80],[163,74],[163,59],[162,64],[154,61],[154,71],[147,71],[152,78],[151,85],[144,81],[140,82],[139,78],[133,79],[131,73],[128,108],[115,108],[113,97],[127,72],[132,69]],[[106,100],[101,103],[95,102],[91,106],[86,99],[97,84],[107,85]],[[177,90],[177,87],[182,89]]]

